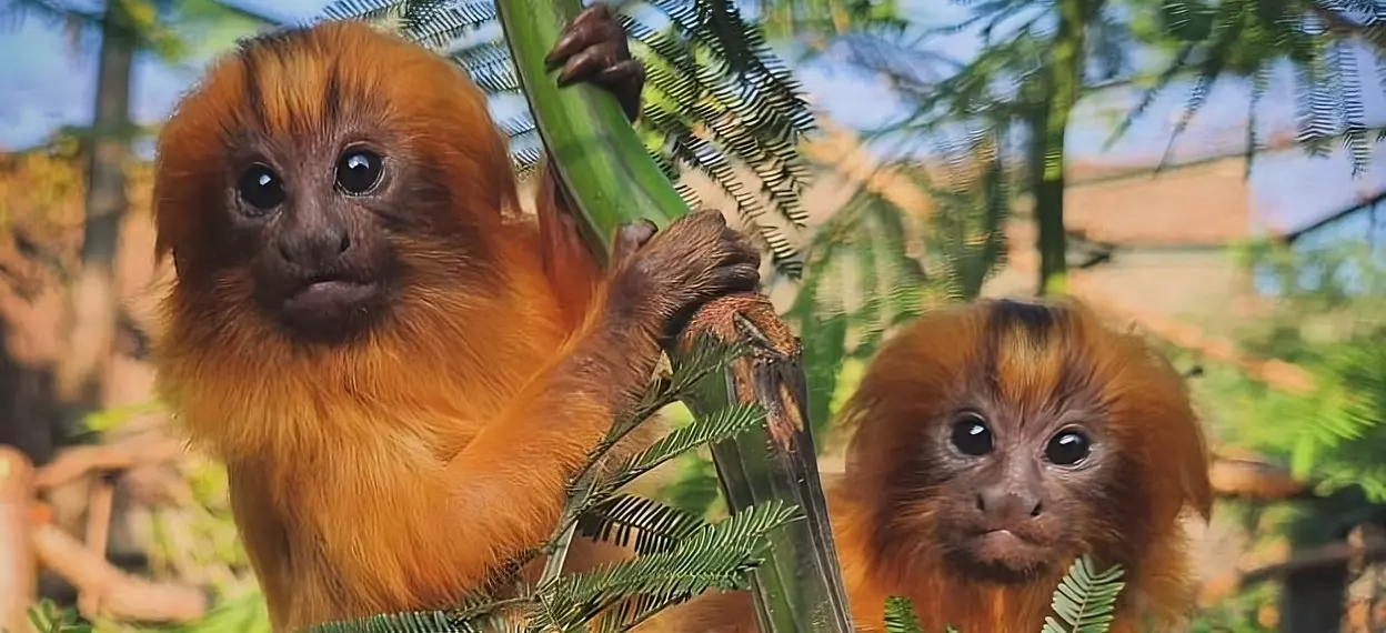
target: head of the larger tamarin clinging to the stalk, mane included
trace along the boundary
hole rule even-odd
[[[179,104],[158,161],[159,249],[213,321],[335,345],[503,285],[514,177],[485,96],[363,24],[244,42]]]

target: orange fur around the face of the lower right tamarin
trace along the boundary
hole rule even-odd
[[[922,442],[931,425],[948,422],[941,409],[988,382],[1020,411],[1088,399],[1117,457],[1105,464],[1110,476],[1100,489],[1078,494],[1088,507],[1059,517],[1074,547],[1058,547],[1058,564],[1021,585],[976,580],[945,565],[936,507],[959,492],[947,482],[908,488],[927,479],[911,470],[930,468],[920,464]],[[983,301],[934,313],[880,350],[841,420],[855,434],[829,504],[862,630],[880,630],[893,594],[915,600],[926,630],[1038,630],[1076,550],[1127,569],[1113,632],[1181,630],[1192,587],[1178,515],[1186,507],[1210,512],[1207,454],[1182,378],[1137,335],[1105,328],[1076,303]],[[1138,629],[1142,618],[1173,629]]]

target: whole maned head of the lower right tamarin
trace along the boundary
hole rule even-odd
[[[1185,507],[1210,511],[1178,373],[1077,303],[979,301],[920,319],[841,416],[879,564],[1048,582],[1084,553],[1138,564]]]

